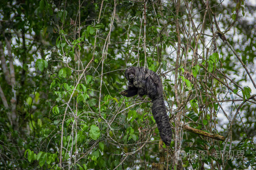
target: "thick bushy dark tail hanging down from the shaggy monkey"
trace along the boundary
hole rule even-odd
[[[163,98],[155,99],[151,107],[157,128],[163,142],[169,146],[172,141],[172,128],[169,123],[169,118],[166,114],[165,102]]]

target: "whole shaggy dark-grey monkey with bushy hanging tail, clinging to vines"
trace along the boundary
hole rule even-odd
[[[144,67],[130,67],[125,71],[125,77],[128,80],[128,90],[121,94],[126,97],[132,97],[138,94],[140,97],[148,95],[153,104],[152,114],[163,142],[169,146],[172,140],[172,128],[169,123],[169,117],[166,114],[165,102],[163,100],[162,82],[157,73]]]

